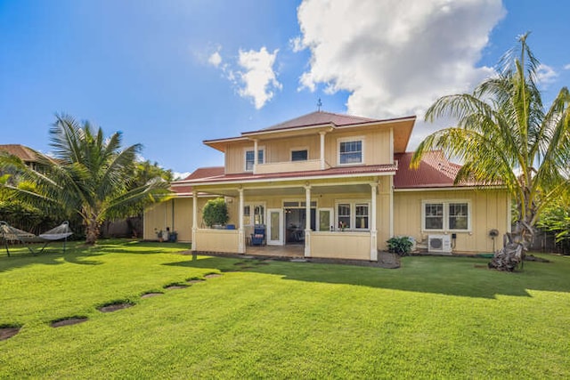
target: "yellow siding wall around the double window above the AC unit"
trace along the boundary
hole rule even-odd
[[[471,205],[471,230],[457,234],[454,253],[484,253],[493,251],[489,230],[499,230],[495,249],[502,244],[501,236],[508,231],[509,197],[504,190],[443,190],[396,191],[394,194],[394,234],[411,236],[427,243],[429,233],[421,229],[423,200],[468,200]],[[446,231],[447,233],[451,233]]]

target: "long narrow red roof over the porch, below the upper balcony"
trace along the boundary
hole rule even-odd
[[[224,169],[223,167],[220,167]],[[353,175],[370,175],[379,173],[395,172],[395,165],[369,165],[369,166],[347,166],[347,167],[331,167],[325,170],[311,170],[288,173],[269,173],[269,174],[253,174],[253,173],[236,173],[236,174],[220,174],[206,178],[186,178],[183,181],[172,183],[173,189],[176,187],[186,186],[189,183],[218,183],[218,182],[258,182],[265,180],[291,180],[295,178],[326,178],[330,176],[349,177]]]

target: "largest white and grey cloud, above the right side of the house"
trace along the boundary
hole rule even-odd
[[[350,114],[423,117],[436,98],[493,73],[476,62],[504,14],[500,0],[305,0],[293,46],[312,58],[300,83],[348,91]]]

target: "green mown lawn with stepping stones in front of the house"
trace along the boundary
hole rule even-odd
[[[501,273],[476,258],[386,270],[71,246],[0,254],[0,325],[22,326],[0,341],[0,378],[570,377],[570,257]],[[209,273],[223,276],[164,288]],[[97,310],[115,301],[135,305]],[[68,317],[88,320],[50,327]]]

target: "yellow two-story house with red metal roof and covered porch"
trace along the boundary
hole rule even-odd
[[[490,231],[509,230],[507,191],[453,185],[460,166],[439,151],[412,170],[415,119],[317,111],[204,141],[224,153],[224,166],[173,182],[178,195],[147,212],[145,238],[169,225],[193,251],[244,254],[263,226],[265,244],[302,245],[305,257],[376,261],[402,235],[430,252],[492,251]],[[200,210],[215,196],[226,199],[235,230],[202,225]]]

